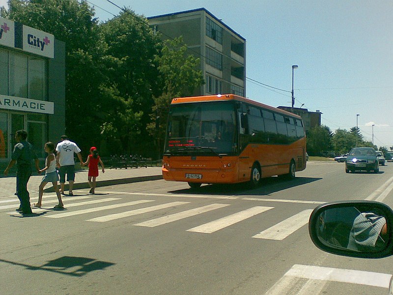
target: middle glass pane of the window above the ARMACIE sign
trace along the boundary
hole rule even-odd
[[[28,98],[28,57],[9,52],[9,95]]]

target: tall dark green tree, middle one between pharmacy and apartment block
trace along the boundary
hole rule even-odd
[[[145,126],[150,121],[153,96],[163,91],[155,60],[161,40],[147,20],[129,8],[100,27],[111,56],[106,63],[110,78],[107,93],[123,101],[103,125],[103,134],[116,136],[122,152],[140,153],[141,143],[150,142]]]

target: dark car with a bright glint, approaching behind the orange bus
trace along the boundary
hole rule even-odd
[[[352,148],[345,160],[345,172],[371,170],[379,172],[377,153],[374,148]]]

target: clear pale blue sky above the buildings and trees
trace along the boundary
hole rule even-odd
[[[106,21],[119,8],[88,0]],[[112,0],[145,17],[204,7],[247,40],[246,76],[288,91],[295,107],[320,110],[332,131],[358,126],[378,147],[393,146],[392,0]],[[0,6],[5,0],[0,0]],[[109,11],[106,12],[103,9]],[[111,14],[112,13],[112,14]],[[290,106],[290,93],[248,80],[247,97]]]

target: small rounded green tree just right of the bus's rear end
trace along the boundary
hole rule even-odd
[[[326,125],[315,126],[307,134],[307,152],[320,155],[332,149],[332,130]]]

